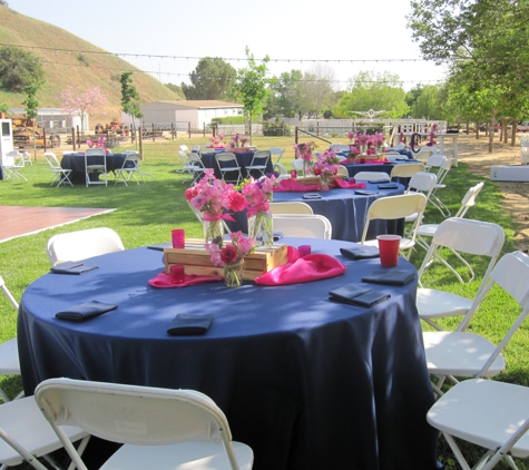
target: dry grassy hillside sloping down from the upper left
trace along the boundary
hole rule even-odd
[[[106,52],[61,28],[0,6],[0,46],[3,45],[25,46],[25,50],[29,50],[40,59],[46,72],[46,84],[38,92],[37,99],[42,108],[60,107],[59,94],[68,85],[78,85],[84,90],[99,86],[108,98],[108,106],[105,115],[90,116],[90,123],[107,123],[114,117],[121,116],[119,76],[125,70],[138,71],[131,78],[141,102],[185,99],[148,74],[141,72],[111,53],[107,56],[58,51],[68,49]],[[49,49],[30,49],[31,47]],[[0,102],[6,102],[11,108],[23,108],[21,105],[23,99],[22,94],[0,90]]]

